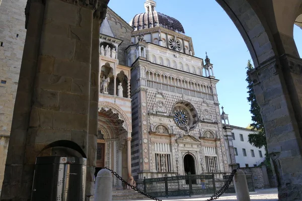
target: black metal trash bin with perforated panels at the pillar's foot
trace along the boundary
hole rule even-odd
[[[57,142],[54,143],[55,145],[49,144],[43,150],[62,145]],[[74,149],[74,146],[64,147]],[[87,159],[83,150],[80,149],[74,150],[82,152],[83,157],[43,156],[36,158],[31,201],[85,200]]]

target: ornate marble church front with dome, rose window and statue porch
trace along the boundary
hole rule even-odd
[[[178,20],[157,12],[155,1],[144,7],[129,24],[108,9],[100,29],[97,169],[111,167],[125,179],[222,177],[232,166],[213,65],[195,56]]]

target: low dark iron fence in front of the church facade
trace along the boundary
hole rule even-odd
[[[214,174],[183,175],[160,178],[144,178],[136,181],[138,189],[155,197],[212,194],[228,180],[230,175],[215,179]],[[246,175],[250,191],[255,191],[252,175]],[[225,192],[235,192],[234,183]]]

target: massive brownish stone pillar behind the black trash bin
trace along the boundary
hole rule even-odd
[[[35,158],[51,142],[77,143],[91,169],[91,159],[95,160],[90,158],[95,153],[88,153],[93,17],[100,24],[108,1],[104,3],[95,5],[96,11],[83,1],[28,3],[28,31],[1,200],[30,199]],[[77,154],[53,148],[41,155],[55,153]]]

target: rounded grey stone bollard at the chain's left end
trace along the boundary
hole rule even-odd
[[[108,169],[101,169],[96,178],[94,201],[112,200],[112,174]]]

